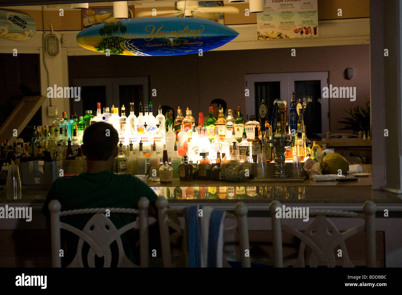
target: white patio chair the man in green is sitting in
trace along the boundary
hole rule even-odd
[[[77,252],[74,260],[68,267],[84,267],[82,260],[82,247],[84,242],[88,243],[90,249],[87,255],[89,267],[95,267],[95,254],[104,257],[104,267],[111,266],[112,254],[110,245],[116,241],[119,250],[117,267],[138,267],[125,255],[120,236],[135,227],[135,221],[117,229],[114,224],[106,217],[106,210],[111,213],[139,214],[139,252],[141,267],[148,267],[148,208],[150,201],[146,197],[141,197],[138,201],[139,209],[130,208],[90,208],[60,211],[61,204],[57,200],[49,203],[50,224],[51,224],[51,258],[52,267],[61,267],[62,260],[59,256],[61,249],[60,229],[67,230],[79,237]],[[71,216],[77,214],[94,213],[92,218],[86,223],[81,231],[74,226],[60,222],[60,216]]]

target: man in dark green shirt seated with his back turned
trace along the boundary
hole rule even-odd
[[[119,136],[112,125],[96,122],[86,128],[82,138],[82,153],[86,156],[87,172],[73,177],[60,177],[53,182],[47,194],[42,212],[49,218],[49,202],[57,199],[62,205],[62,211],[85,208],[135,208],[140,197],[150,200],[149,214],[156,217],[156,194],[148,185],[131,175],[116,175],[113,173],[113,161],[118,153]],[[60,220],[80,230],[90,220],[93,214],[62,216]],[[110,220],[117,229],[135,221],[133,214],[111,213]],[[62,240],[66,248],[62,265],[70,264],[76,254],[78,237],[62,230]],[[135,244],[138,235],[129,230],[121,235],[124,252],[135,264],[139,265],[139,253]],[[84,243],[86,244],[86,243]],[[62,247],[63,248],[63,247]],[[89,246],[83,251],[88,252]],[[117,254],[116,242],[111,244],[112,256]],[[101,258],[98,265],[102,264]],[[112,262],[113,263],[113,262]],[[117,265],[117,261],[115,263]],[[113,265],[112,265],[113,266]]]

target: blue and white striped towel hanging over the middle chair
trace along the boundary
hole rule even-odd
[[[225,214],[203,205],[185,208],[189,267],[222,267]]]

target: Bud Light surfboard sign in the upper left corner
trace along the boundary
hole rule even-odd
[[[21,12],[0,10],[0,37],[27,41],[36,33],[33,18]]]

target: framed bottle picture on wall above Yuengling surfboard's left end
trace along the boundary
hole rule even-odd
[[[114,22],[119,20],[113,17],[113,6],[96,6],[89,7],[88,9],[81,9],[82,11],[82,29],[89,28],[94,24],[101,24],[105,22]],[[134,17],[134,5],[128,6],[128,18]]]

